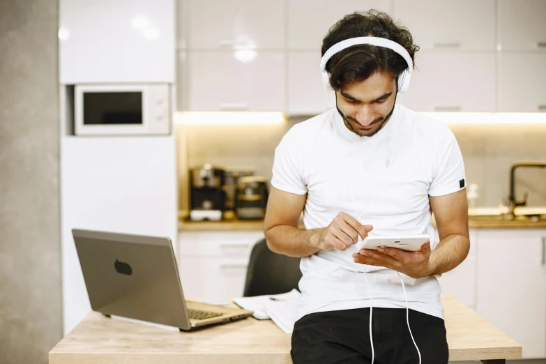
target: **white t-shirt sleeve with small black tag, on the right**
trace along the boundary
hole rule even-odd
[[[430,196],[448,195],[467,186],[459,144],[453,132],[446,129],[446,133],[437,147],[434,174],[428,190]]]

